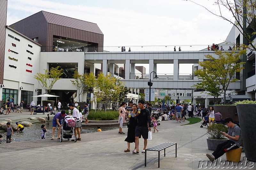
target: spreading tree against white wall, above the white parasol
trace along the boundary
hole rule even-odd
[[[44,91],[49,94],[52,90],[53,85],[61,79],[60,76],[63,74],[62,69],[59,70],[59,66],[52,67],[49,70],[44,70],[44,74],[36,73],[34,78],[38,81],[39,85],[44,89]]]

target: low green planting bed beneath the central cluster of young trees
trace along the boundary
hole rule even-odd
[[[94,114],[94,111],[91,110],[89,112],[89,115],[87,116],[88,120],[92,120],[94,117],[94,120],[98,121],[109,121],[109,120],[116,120],[118,119],[119,113],[117,111],[96,111]]]

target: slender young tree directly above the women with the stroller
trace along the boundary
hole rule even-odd
[[[75,71],[73,78],[75,80],[70,80],[73,85],[76,86],[76,90],[78,93],[78,101],[80,102],[80,95],[84,93],[84,87],[86,87],[86,74],[79,74]]]

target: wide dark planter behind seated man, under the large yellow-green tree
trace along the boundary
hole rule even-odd
[[[239,122],[238,115],[236,114],[236,106],[213,106],[214,113],[220,112],[222,119],[231,117],[234,122]]]

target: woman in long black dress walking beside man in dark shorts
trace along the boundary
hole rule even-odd
[[[133,103],[132,104],[132,111],[129,113],[129,126],[128,126],[128,132],[127,137],[124,141],[127,142],[128,148],[124,150],[124,152],[130,152],[130,143],[135,143],[135,127],[137,126],[137,120],[134,119],[136,116],[136,110],[138,106]],[[136,151],[136,148],[134,149]]]

